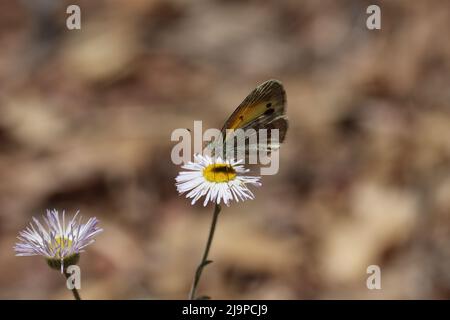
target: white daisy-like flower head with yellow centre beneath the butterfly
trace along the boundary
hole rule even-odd
[[[180,194],[188,192],[186,198],[192,198],[194,204],[202,196],[206,196],[203,205],[208,202],[227,206],[231,200],[253,199],[254,195],[247,184],[261,186],[260,177],[244,176],[248,172],[241,165],[243,160],[223,160],[221,157],[211,158],[207,155],[194,155],[194,162],[188,162],[176,177],[176,187]]]

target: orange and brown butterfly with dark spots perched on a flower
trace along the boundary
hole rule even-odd
[[[234,157],[239,152],[248,157],[251,152],[264,151],[269,154],[277,150],[288,129],[286,106],[286,91],[280,81],[272,79],[260,84],[225,122],[221,130],[222,141],[208,144],[207,149],[212,154],[215,154],[213,149],[219,150],[224,158],[228,155]],[[234,132],[238,129],[246,132],[245,143],[236,143]],[[267,129],[265,139],[260,129]],[[272,137],[273,129],[278,130],[278,137]],[[217,149],[219,143],[224,146],[222,149]]]

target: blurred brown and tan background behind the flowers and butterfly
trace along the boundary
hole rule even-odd
[[[449,1],[1,1],[0,298],[71,298],[12,249],[46,208],[101,220],[83,298],[186,298],[212,207],[178,196],[170,134],[270,78],[280,172],[223,210],[199,294],[449,298],[449,31]]]

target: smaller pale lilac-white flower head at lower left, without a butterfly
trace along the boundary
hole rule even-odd
[[[64,211],[60,219],[57,210],[47,210],[47,216],[43,217],[46,227],[33,217],[34,224],[31,222],[17,237],[20,242],[14,247],[16,256],[43,256],[50,267],[61,269],[61,272],[64,265],[76,264],[79,253],[103,231],[98,227],[97,218],[82,224],[78,213],[66,224]]]

